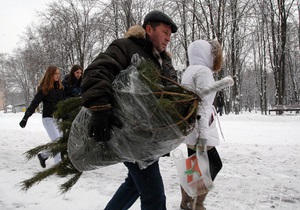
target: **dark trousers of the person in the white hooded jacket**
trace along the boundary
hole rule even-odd
[[[196,151],[188,148],[188,156],[195,154]],[[223,164],[219,156],[219,153],[215,147],[207,151],[208,161],[209,161],[209,171],[212,181],[215,180],[217,174],[221,170]]]

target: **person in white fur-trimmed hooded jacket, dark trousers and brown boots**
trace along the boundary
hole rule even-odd
[[[200,89],[212,85],[215,82],[213,74],[220,71],[222,66],[222,47],[218,41],[196,40],[189,45],[188,56],[190,66],[184,72],[181,84]],[[200,119],[196,122],[196,128],[185,138],[189,156],[195,154],[196,145],[206,142],[212,180],[222,168],[222,161],[216,149],[219,136],[216,127],[217,113],[213,106],[215,95],[216,92],[213,92],[202,98],[198,109]],[[191,198],[181,187],[181,194],[181,209],[205,209],[203,202],[207,193]]]

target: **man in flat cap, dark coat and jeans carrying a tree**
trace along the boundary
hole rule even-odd
[[[171,34],[177,31],[176,24],[161,11],[151,11],[143,26],[132,26],[126,38],[113,41],[105,52],[85,69],[82,80],[82,102],[92,111],[92,126],[96,141],[109,141],[111,129],[117,122],[113,114],[112,82],[121,70],[131,64],[131,58],[138,54],[153,62],[161,74],[177,80],[176,71],[166,48]],[[167,85],[163,81],[162,85]],[[152,162],[152,160],[150,160]],[[105,210],[125,210],[138,199],[142,210],[165,210],[166,197],[158,160],[141,169],[136,162],[124,162],[128,175]]]

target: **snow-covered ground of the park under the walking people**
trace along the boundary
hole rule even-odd
[[[84,172],[63,195],[58,186],[66,179],[56,176],[27,192],[20,190],[21,181],[42,170],[37,159],[27,161],[23,153],[49,141],[40,114],[29,118],[25,129],[18,125],[22,117],[23,113],[0,112],[0,209],[103,209],[127,174],[122,164]],[[220,121],[225,141],[217,149],[223,169],[207,196],[206,208],[300,209],[300,114],[244,113],[223,115]],[[179,148],[185,152],[185,145]],[[172,158],[161,158],[160,168],[167,209],[178,210],[181,195]],[[140,209],[140,202],[131,209]]]

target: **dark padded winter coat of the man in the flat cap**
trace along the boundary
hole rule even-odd
[[[153,61],[160,68],[159,61],[152,53],[152,43],[145,38],[129,37],[113,41],[107,50],[100,53],[84,71],[81,85],[82,102],[85,107],[112,104],[112,82],[121,70],[131,64],[131,58],[138,53],[146,60]],[[171,58],[166,52],[162,58],[161,74],[177,80]],[[166,84],[163,84],[166,85]]]

